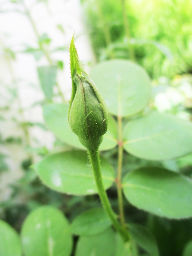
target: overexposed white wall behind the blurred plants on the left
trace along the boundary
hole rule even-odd
[[[69,46],[75,31],[75,43],[80,59],[89,71],[88,63],[93,63],[94,57],[83,24],[80,1],[49,0],[47,7],[43,3],[38,3],[33,8],[31,4],[35,1],[24,0],[24,2],[30,7],[39,34],[47,33],[52,39],[52,49],[58,46]],[[11,121],[12,117],[20,121],[22,119],[18,114],[19,104],[24,109],[22,121],[43,122],[42,108],[39,105],[31,106],[44,98],[40,90],[36,67],[46,65],[47,61],[42,58],[37,62],[31,54],[21,53],[25,45],[37,47],[37,39],[29,20],[20,13],[10,11],[13,6],[14,4],[10,4],[8,0],[0,0],[0,108],[7,104],[10,107],[10,111],[0,112],[0,115],[4,115],[4,121],[0,121],[0,133],[3,139],[23,135],[16,122]],[[2,10],[8,11],[2,12]],[[64,34],[56,28],[57,25],[63,26]],[[11,63],[6,61],[4,47],[17,52],[15,61]],[[58,73],[58,82],[65,99],[68,100],[71,92],[69,52],[55,53],[53,58],[64,62],[65,68],[64,71]],[[16,83],[13,83],[13,78],[16,79]],[[14,101],[7,92],[7,85],[18,90],[19,97]],[[53,142],[51,132],[43,132],[38,128],[31,128],[30,132],[33,138],[32,146],[36,146],[36,141],[38,141],[38,145],[51,148]],[[8,156],[9,171],[0,173],[0,200],[7,200],[10,194],[9,184],[22,177],[20,162],[27,155],[25,147],[21,149],[18,145],[3,145],[0,146],[0,150]]]

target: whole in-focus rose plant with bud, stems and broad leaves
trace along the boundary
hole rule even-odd
[[[129,171],[123,168],[123,157],[155,163],[187,155],[192,152],[192,124],[152,110],[150,79],[135,63],[105,61],[89,76],[74,38],[69,52],[71,100],[49,103],[43,112],[48,128],[70,148],[48,155],[33,168],[49,188],[69,196],[98,194],[101,206],[80,212],[70,223],[55,207],[38,207],[25,219],[21,239],[1,221],[0,256],[21,256],[22,251],[26,256],[162,255],[152,230],[129,221],[125,204],[152,218],[191,218],[192,180],[156,164]],[[116,170],[104,157],[112,150],[118,155]],[[114,184],[118,210],[106,192]],[[192,253],[191,244],[183,256]]]

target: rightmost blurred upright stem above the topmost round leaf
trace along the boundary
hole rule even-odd
[[[132,61],[135,61],[135,54],[134,54],[134,49],[132,47],[132,45],[130,44],[130,29],[129,29],[129,21],[127,18],[127,15],[125,13],[126,8],[125,8],[125,0],[121,0],[121,4],[122,4],[122,11],[123,11],[123,23],[124,23],[124,29],[125,29],[125,38],[127,40],[127,48],[129,50],[129,54],[130,54],[130,59]]]

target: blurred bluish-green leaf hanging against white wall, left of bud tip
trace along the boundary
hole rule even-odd
[[[40,85],[45,94],[46,99],[53,97],[53,87],[56,83],[56,66],[42,66],[37,68]]]

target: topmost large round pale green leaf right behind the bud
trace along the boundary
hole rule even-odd
[[[150,79],[142,67],[131,61],[99,63],[91,77],[113,115],[132,116],[143,110],[150,100]]]

